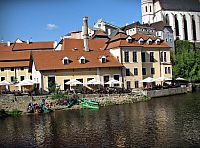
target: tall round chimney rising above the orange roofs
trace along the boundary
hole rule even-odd
[[[83,17],[82,32],[83,32],[84,51],[89,51],[89,47],[88,47],[88,40],[89,40],[89,35],[88,35],[88,17],[87,16]]]

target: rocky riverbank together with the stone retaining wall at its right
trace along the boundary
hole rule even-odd
[[[169,95],[184,94],[191,92],[191,87],[178,87],[161,90],[140,91],[137,90],[130,94],[93,94],[82,95],[78,94],[79,98],[86,98],[91,101],[96,101],[100,106],[117,105],[117,104],[130,104],[136,102],[148,101],[154,97],[162,97]],[[4,95],[0,96],[0,109],[5,111],[18,110],[23,113],[27,112],[27,107],[30,102],[33,104],[39,104],[42,99],[45,99],[46,106],[52,110],[69,110],[69,109],[81,109],[80,105],[74,105],[71,108],[67,108],[67,100],[72,96],[66,96],[65,98],[59,98],[53,100],[51,96],[14,96]]]

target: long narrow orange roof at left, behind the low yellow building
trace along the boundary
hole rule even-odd
[[[14,43],[13,51],[53,49],[54,42]]]

